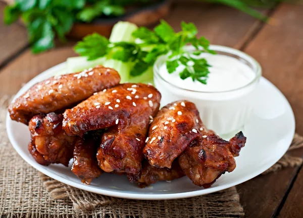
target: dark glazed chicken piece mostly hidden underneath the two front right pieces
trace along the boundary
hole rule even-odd
[[[142,175],[137,181],[140,188],[144,188],[145,186],[154,184],[158,181],[178,179],[185,175],[177,160],[173,162],[171,169],[153,167],[146,160],[143,161],[142,165]]]

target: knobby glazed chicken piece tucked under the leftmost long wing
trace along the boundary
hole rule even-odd
[[[42,165],[63,164],[68,166],[73,158],[76,137],[62,130],[62,114],[54,112],[36,115],[29,121],[31,142],[29,152]]]

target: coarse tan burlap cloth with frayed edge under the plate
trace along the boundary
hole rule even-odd
[[[235,187],[178,200],[128,200],[86,192],[49,178],[15,152],[5,127],[8,98],[0,100],[0,217],[242,217]],[[303,145],[295,135],[290,149]],[[285,155],[266,173],[302,164]]]

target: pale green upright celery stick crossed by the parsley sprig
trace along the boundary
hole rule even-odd
[[[138,27],[129,22],[118,22],[112,30],[110,36],[110,42],[134,42],[135,39],[132,37],[133,31],[138,29]],[[132,63],[122,62],[120,60],[107,59],[104,62],[104,66],[116,69],[121,77],[121,83],[129,81],[130,69]]]

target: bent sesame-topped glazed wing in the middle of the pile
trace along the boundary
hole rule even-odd
[[[142,149],[151,116],[159,110],[161,94],[145,84],[121,84],[99,92],[64,113],[68,135],[109,128],[100,140],[97,160],[105,172],[125,172],[140,178]]]

